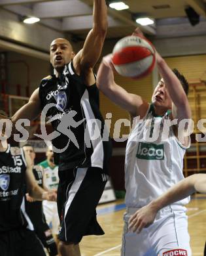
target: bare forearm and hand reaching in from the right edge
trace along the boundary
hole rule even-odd
[[[182,200],[194,192],[206,194],[206,175],[195,174],[169,188],[162,196],[142,207],[129,219],[129,228],[133,232],[141,230],[154,222],[156,214],[163,207]]]

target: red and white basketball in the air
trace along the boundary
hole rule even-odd
[[[112,63],[116,72],[133,79],[150,74],[156,62],[152,43],[136,35],[120,39],[112,53]]]

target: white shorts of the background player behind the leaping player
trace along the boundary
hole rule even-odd
[[[60,230],[60,219],[58,215],[57,203],[44,200],[43,211],[46,217],[46,223],[49,226],[52,224],[52,234],[58,234]]]

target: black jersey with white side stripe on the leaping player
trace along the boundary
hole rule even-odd
[[[63,151],[56,161],[59,169],[106,167],[111,156],[111,141],[108,136],[102,139],[103,134],[108,133],[99,111],[96,85],[87,87],[70,62],[60,77],[52,75],[41,81],[39,98],[42,108],[51,106],[46,116],[58,131],[52,144]]]

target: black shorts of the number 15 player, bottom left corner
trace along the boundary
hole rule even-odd
[[[26,228],[0,232],[0,256],[46,256],[35,232]]]

